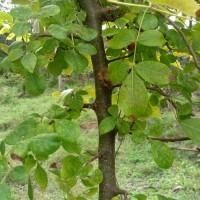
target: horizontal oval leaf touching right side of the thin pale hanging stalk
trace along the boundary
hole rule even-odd
[[[157,30],[148,30],[140,34],[138,43],[144,46],[162,46],[166,42],[163,34]]]

